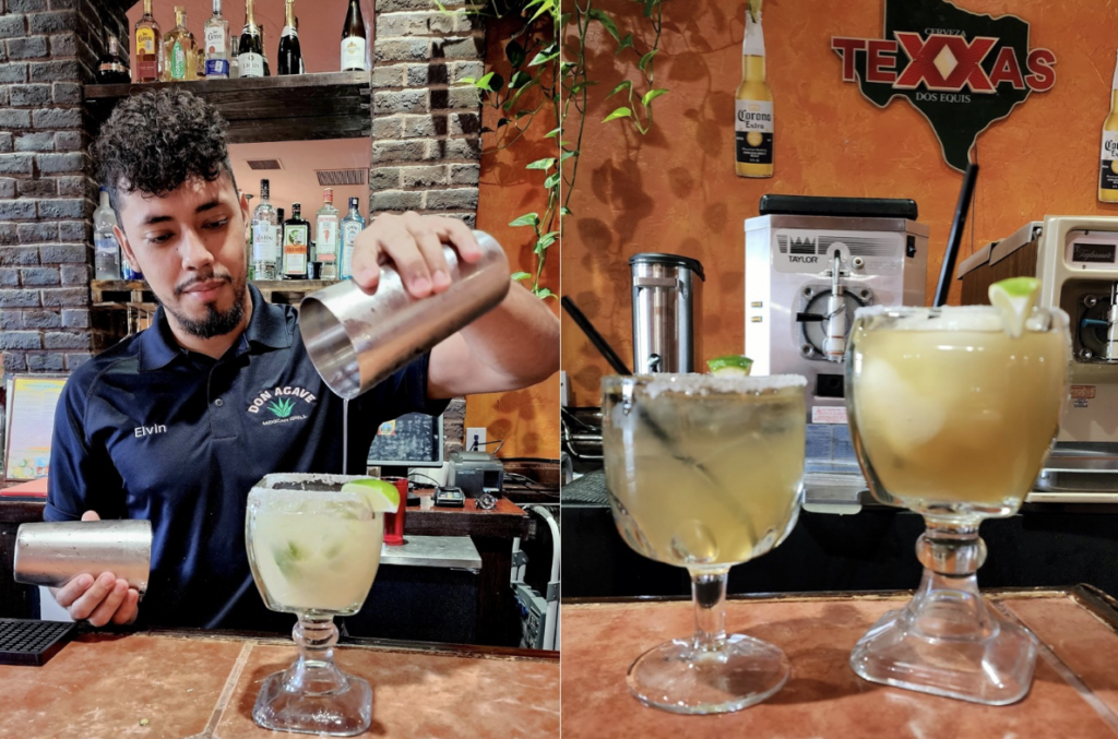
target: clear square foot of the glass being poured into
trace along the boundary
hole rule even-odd
[[[287,671],[265,679],[253,707],[253,720],[273,731],[295,731],[331,737],[353,737],[372,720],[372,689],[360,678],[345,675],[345,684],[324,693],[294,692]]]

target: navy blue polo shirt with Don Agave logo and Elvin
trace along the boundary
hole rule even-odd
[[[290,627],[253,584],[248,491],[273,472],[342,472],[342,399],[315,372],[296,311],[249,291],[248,328],[220,359],[180,347],[160,307],[150,329],[75,370],[58,402],[44,518],[151,521],[142,624]],[[349,474],[364,474],[381,423],[445,409],[427,400],[428,360],[350,401]]]

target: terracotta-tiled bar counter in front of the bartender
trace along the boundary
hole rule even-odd
[[[42,666],[0,665],[0,737],[252,739],[262,681],[295,657],[291,639],[212,632],[78,636]],[[559,656],[493,647],[368,642],[339,646],[372,686],[362,736],[559,736]]]

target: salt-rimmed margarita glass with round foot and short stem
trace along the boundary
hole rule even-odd
[[[695,633],[629,667],[633,694],[676,713],[758,703],[788,679],[771,644],[726,633],[730,567],[779,544],[799,513],[799,376],[653,375],[603,380],[603,445],[614,521],[651,559],[691,574]]]

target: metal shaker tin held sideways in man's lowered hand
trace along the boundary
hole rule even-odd
[[[151,521],[23,523],[16,532],[16,581],[57,588],[78,575],[112,572],[143,596],[151,541]]]

